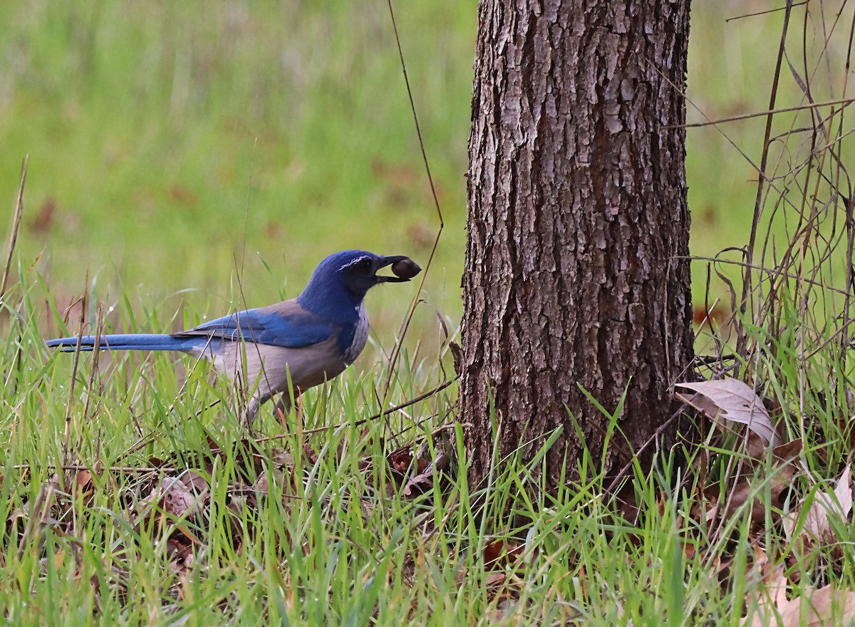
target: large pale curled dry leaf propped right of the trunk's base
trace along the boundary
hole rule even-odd
[[[717,379],[716,381],[677,383],[697,394],[675,394],[679,399],[703,411],[712,420],[721,416],[724,420],[746,424],[748,429],[760,436],[766,443],[775,444],[775,427],[763,401],[751,387],[739,379]],[[698,396],[700,394],[700,397]]]

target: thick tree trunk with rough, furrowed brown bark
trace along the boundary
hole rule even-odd
[[[546,484],[565,456],[572,473],[568,410],[598,456],[606,421],[579,385],[609,411],[628,390],[607,472],[673,412],[669,385],[693,356],[689,212],[685,131],[664,127],[685,121],[688,30],[689,0],[481,0],[460,391],[471,482],[497,443],[502,456],[531,441],[531,458],[561,424]]]

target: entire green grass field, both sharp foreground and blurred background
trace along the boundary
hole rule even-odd
[[[768,105],[781,14],[724,21],[764,9],[694,3],[689,98],[713,119]],[[476,6],[416,0],[397,11],[445,215],[424,296],[453,332]],[[189,360],[104,354],[93,375],[86,356],[72,376],[73,356],[50,356],[41,341],[62,330],[63,316],[76,328],[80,312],[65,310],[87,288],[89,322],[103,305],[115,330],[165,331],[292,297],[333,250],[422,263],[438,221],[384,3],[9,0],[3,15],[0,199],[9,207],[30,155],[20,281],[0,317],[8,338],[0,349],[4,620],[447,627],[576,617],[646,624],[667,614],[669,624],[737,625],[752,600],[763,600],[769,564],[786,567],[794,599],[829,582],[855,588],[846,520],[834,522],[834,547],[804,552],[791,552],[798,528],[786,538],[773,529],[781,508],[801,511],[795,495],[769,505],[780,487],[774,459],[734,480],[734,492],[751,489],[732,516],[719,516],[715,529],[698,518],[712,515],[716,498],[731,498],[728,472],[744,456],[726,438],[700,449],[712,459],[709,477],[693,465],[685,482],[671,482],[677,473],[666,459],[639,482],[645,516],[637,526],[616,523],[600,499],[603,477],[584,471],[587,481],[554,500],[517,500],[529,520],[522,531],[510,527],[505,504],[536,481],[536,468],[497,473],[477,497],[453,466],[422,494],[385,483],[402,472],[394,446],[426,443],[432,461],[439,449],[462,457],[459,429],[426,433],[453,412],[454,387],[390,423],[357,423],[380,411],[387,365],[379,357],[413,284],[369,295],[379,343],[333,385],[307,394],[300,416],[289,417],[292,430],[262,411],[262,432],[281,439],[255,450],[241,448],[249,445],[227,384]],[[840,65],[845,52],[828,54]],[[781,106],[799,98],[793,81],[781,86]],[[688,115],[703,120],[691,105]],[[722,130],[758,160],[764,118]],[[756,172],[712,127],[689,130],[687,151],[693,253],[745,244]],[[693,278],[697,299],[702,263]],[[713,289],[721,295],[720,284]],[[795,310],[783,319],[785,328],[801,322]],[[793,412],[781,417],[787,437],[805,437],[799,463],[811,471],[792,483],[811,497],[839,475],[852,438],[840,418],[846,390],[828,376],[848,381],[851,365],[829,348],[833,320],[821,322],[810,346],[795,332],[779,339],[755,329],[758,381]],[[425,348],[441,333],[434,311],[420,308],[388,404],[447,378]],[[805,365],[814,346],[823,352]],[[218,399],[227,402],[197,418]],[[252,453],[257,464],[246,463]],[[63,461],[86,470],[54,483]],[[178,470],[134,472],[155,464]],[[100,472],[109,466],[133,470]],[[153,496],[156,481],[175,477],[202,482],[204,506],[176,513]],[[716,481],[721,491],[710,497],[705,488]],[[759,531],[753,497],[765,506]],[[472,514],[475,498],[486,504],[483,518]],[[176,537],[192,551],[180,553]]]

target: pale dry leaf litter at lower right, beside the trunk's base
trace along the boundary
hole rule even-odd
[[[823,550],[832,561],[822,568],[815,567],[817,574],[823,568],[838,572],[844,569],[837,530],[848,529],[851,524],[852,460],[842,466],[833,482],[819,481],[800,461],[804,442],[797,439],[780,443],[779,431],[752,387],[734,379],[677,385],[695,393],[675,393],[675,397],[710,418],[716,431],[724,434],[734,426],[746,425],[744,437],[733,451],[735,457],[731,458],[738,461],[735,468],[728,466],[733,472],[724,477],[729,488],[723,483],[707,486],[704,498],[699,499],[706,506],[695,506],[692,512],[695,529],[705,528],[711,537],[716,523],[722,529],[740,512],[746,511],[751,521],[752,559],[748,560],[746,577],[754,585],[746,586],[747,615],[741,625],[795,627],[855,622],[855,591],[830,583],[799,588],[802,570],[792,567],[807,565],[810,571]],[[728,453],[723,443],[710,447],[710,451],[713,456]],[[709,454],[700,455],[696,463],[709,465],[710,458]],[[708,472],[709,468],[703,470]],[[805,482],[812,488],[799,496],[799,485]],[[771,529],[767,528],[769,522]],[[769,542],[769,534],[781,538],[781,542]],[[722,582],[734,576],[727,553],[711,555],[708,563]],[[823,578],[828,581],[827,575],[821,575],[818,581]]]

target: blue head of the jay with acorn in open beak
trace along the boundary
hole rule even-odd
[[[386,266],[392,266],[394,276],[377,274]],[[331,314],[347,305],[358,307],[369,289],[378,283],[410,281],[421,271],[416,262],[403,255],[383,257],[369,251],[333,252],[315,268],[298,302],[315,313]]]

